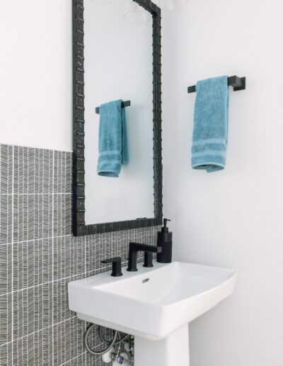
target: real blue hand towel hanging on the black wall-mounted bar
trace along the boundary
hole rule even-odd
[[[227,77],[201,80],[196,85],[192,134],[192,168],[216,172],[226,165],[229,86]]]

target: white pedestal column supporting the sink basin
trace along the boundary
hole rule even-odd
[[[190,366],[188,324],[161,340],[134,337],[134,366]]]

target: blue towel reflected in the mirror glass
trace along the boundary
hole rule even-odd
[[[127,126],[122,100],[110,101],[99,107],[98,175],[119,177],[121,165],[127,164]]]

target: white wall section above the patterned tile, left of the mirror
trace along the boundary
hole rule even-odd
[[[71,151],[71,0],[2,0],[0,35],[0,143]]]

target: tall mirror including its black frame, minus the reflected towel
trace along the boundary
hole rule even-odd
[[[73,0],[73,45],[74,235],[158,225],[160,9],[145,0]],[[98,174],[100,106],[116,100],[124,102],[128,162],[118,177],[105,177]]]

